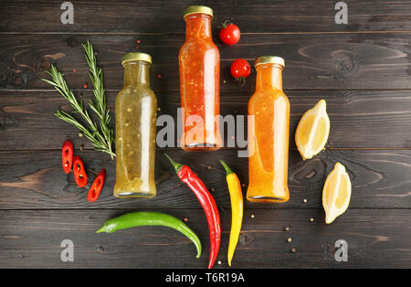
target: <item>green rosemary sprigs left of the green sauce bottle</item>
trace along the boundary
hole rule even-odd
[[[51,65],[50,70],[46,73],[51,77],[51,80],[42,79],[48,84],[52,85],[63,97],[70,103],[74,112],[57,111],[55,115],[65,122],[75,125],[88,139],[93,143],[97,151],[101,151],[111,155],[111,159],[115,154],[112,151],[113,143],[113,131],[110,128],[110,111],[107,109],[107,101],[104,94],[103,78],[101,69],[97,67],[97,61],[94,57],[94,51],[90,42],[87,44],[86,58],[90,66],[90,78],[94,86],[94,95],[96,102],[90,101],[90,108],[96,112],[100,120],[100,129],[97,124],[90,118],[89,112],[84,107],[82,101],[79,101],[71,90],[68,89],[66,80],[64,80],[63,74],[58,69]],[[90,51],[93,54],[93,58],[90,58]],[[88,58],[89,57],[89,58]],[[89,61],[90,59],[90,61]],[[97,77],[94,77],[96,75]],[[75,119],[72,113],[79,113],[83,120],[87,122],[87,127]]]

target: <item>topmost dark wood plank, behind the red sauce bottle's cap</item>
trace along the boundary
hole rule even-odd
[[[214,9],[214,24],[229,19],[243,33],[409,31],[411,4],[406,1],[353,1],[348,4],[348,24],[337,25],[336,2],[302,0],[234,3],[207,1]],[[63,25],[62,2],[52,0],[2,2],[3,33],[184,33],[183,10],[193,1],[75,1],[74,24]],[[308,12],[310,11],[310,12]],[[155,17],[153,17],[155,15]]]

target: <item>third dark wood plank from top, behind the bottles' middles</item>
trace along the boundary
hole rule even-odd
[[[107,92],[113,124],[117,92]],[[156,93],[161,109],[159,115],[173,116],[176,130],[179,92],[159,90]],[[77,91],[76,94],[85,102],[91,97],[90,91]],[[223,91],[221,114],[247,115],[251,94],[248,91]],[[410,90],[288,90],[287,94],[291,104],[291,148],[295,148],[294,133],[301,115],[320,99],[327,101],[332,124],[327,147],[411,148],[411,133],[406,133],[411,122]],[[74,126],[53,115],[58,109],[69,110],[69,105],[56,91],[0,92],[0,150],[59,149],[68,138],[78,147],[84,145],[91,149],[90,141],[79,138],[79,131]],[[244,122],[247,123],[246,119]],[[240,120],[236,123],[237,128],[246,133],[247,126]],[[163,126],[157,131],[161,129]],[[224,129],[227,142],[227,124]],[[225,146],[233,145],[226,143]]]

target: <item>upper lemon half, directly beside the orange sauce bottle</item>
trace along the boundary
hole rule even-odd
[[[324,100],[304,112],[295,132],[295,143],[303,160],[319,154],[324,149],[330,133],[330,119]]]

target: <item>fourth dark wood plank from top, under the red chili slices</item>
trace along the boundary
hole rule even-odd
[[[61,168],[58,151],[1,152],[0,208],[201,208],[193,192],[174,174],[163,156],[156,154],[157,196],[152,199],[124,200],[112,196],[115,183],[115,161],[99,152],[76,150],[83,159],[89,183],[79,188],[72,174]],[[246,195],[248,159],[237,157],[237,151],[189,154],[167,150],[175,161],[189,165],[204,180],[216,198],[218,207],[230,208],[226,174],[218,160],[223,159],[236,171]],[[326,150],[315,158],[302,161],[296,150],[290,152],[290,201],[285,204],[253,204],[247,208],[318,208],[326,176],[336,162],[347,168],[353,183],[352,208],[411,208],[411,151],[333,151]],[[107,180],[98,201],[87,200],[88,190],[100,168],[106,168]],[[307,203],[303,202],[307,199]],[[245,200],[246,201],[246,200]]]

